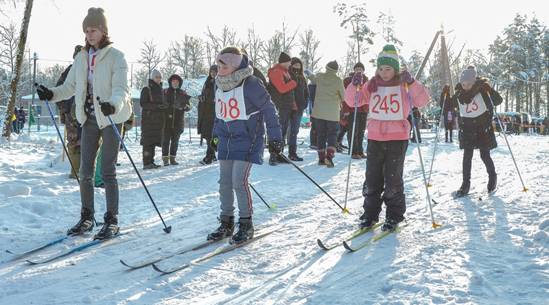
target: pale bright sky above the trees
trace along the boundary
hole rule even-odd
[[[170,41],[183,39],[185,34],[207,40],[207,27],[213,34],[220,34],[224,25],[235,30],[244,40],[248,27],[255,27],[264,40],[282,29],[285,23],[293,33],[309,27],[320,40],[319,55],[323,56],[320,66],[331,60],[341,60],[347,50],[350,29],[340,27],[340,17],[333,12],[337,1],[277,1],[274,5],[237,5],[228,1],[93,1],[93,6],[104,8],[108,29],[114,46],[126,53],[128,62],[137,62],[144,41],[154,39],[159,49],[165,50]],[[179,2],[183,3],[183,2]],[[206,4],[205,4],[206,3]],[[377,29],[379,12],[395,16],[395,36],[404,45],[401,56],[409,58],[411,51],[426,54],[444,24],[447,42],[454,41],[460,49],[487,49],[489,44],[502,34],[517,13],[533,16],[534,12],[544,12],[541,1],[504,1],[494,5],[491,1],[478,1],[474,6],[440,1],[345,1],[347,6],[366,3],[366,14],[371,29]],[[464,2],[462,2],[464,3]],[[4,4],[8,17],[21,20],[22,3],[14,10]],[[31,53],[38,53],[40,66],[71,62],[73,48],[83,44],[82,20],[91,6],[89,1],[43,0],[35,1],[28,36]],[[544,24],[549,24],[549,16],[537,16]],[[0,15],[0,23],[8,21]],[[375,44],[362,62],[375,58],[381,51],[384,40],[379,35]],[[65,51],[63,51],[65,50]],[[299,49],[292,50],[296,56]],[[61,62],[60,62],[61,61]],[[63,62],[64,61],[64,62]],[[372,72],[373,72],[372,68]],[[368,71],[366,71],[367,73]]]

